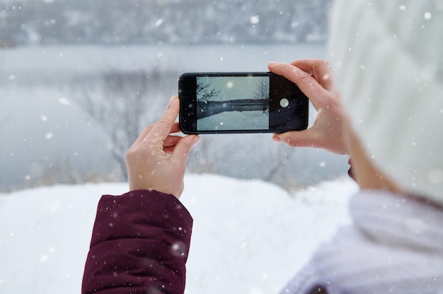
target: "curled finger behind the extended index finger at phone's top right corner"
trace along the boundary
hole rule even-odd
[[[323,59],[299,59],[291,64],[302,71],[311,73],[313,78],[326,90],[333,90],[333,76],[328,61]]]

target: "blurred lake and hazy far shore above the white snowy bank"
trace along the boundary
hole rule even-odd
[[[186,71],[267,71],[328,58],[330,0],[1,0],[0,192],[126,180],[125,152]],[[311,124],[315,111],[311,111]],[[347,158],[204,135],[189,172],[297,189]]]

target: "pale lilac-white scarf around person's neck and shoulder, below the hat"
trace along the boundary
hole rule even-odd
[[[443,294],[443,211],[387,192],[352,197],[353,225],[322,245],[282,290],[328,294]]]

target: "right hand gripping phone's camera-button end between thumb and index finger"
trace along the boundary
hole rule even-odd
[[[337,154],[347,153],[342,129],[343,110],[340,96],[334,90],[329,64],[322,59],[301,59],[291,64],[271,62],[268,68],[296,83],[318,112],[311,128],[275,134],[272,139],[292,147],[315,147]]]

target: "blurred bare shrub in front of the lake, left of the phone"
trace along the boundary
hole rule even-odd
[[[145,127],[149,114],[157,117],[161,113],[163,105],[155,101],[161,78],[156,72],[106,71],[95,86],[79,87],[81,109],[108,135],[111,155],[125,177],[127,149]]]

